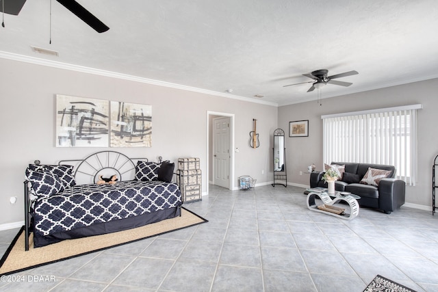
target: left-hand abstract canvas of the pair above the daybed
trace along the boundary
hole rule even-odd
[[[107,147],[109,101],[56,95],[56,147]]]

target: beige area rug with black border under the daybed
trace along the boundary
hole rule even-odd
[[[163,220],[117,233],[83,237],[79,239],[64,240],[41,248],[34,248],[34,237],[31,233],[29,238],[29,250],[25,251],[24,226],[12,241],[10,247],[0,261],[0,276],[13,274],[18,271],[48,265],[68,258],[105,250],[118,245],[131,243],[169,233],[182,228],[208,222],[203,217],[181,208],[181,217]]]

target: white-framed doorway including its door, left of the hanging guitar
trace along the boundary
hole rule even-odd
[[[234,115],[207,111],[207,181],[212,185],[233,189],[233,149]]]

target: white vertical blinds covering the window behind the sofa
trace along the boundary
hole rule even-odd
[[[396,178],[415,185],[419,108],[421,105],[322,116],[324,163],[394,165]]]

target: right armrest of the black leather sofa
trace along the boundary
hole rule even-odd
[[[391,213],[404,204],[406,183],[397,178],[382,178],[378,184],[378,207]]]

